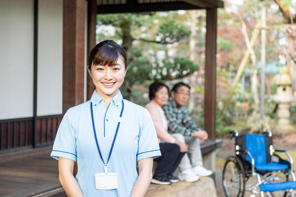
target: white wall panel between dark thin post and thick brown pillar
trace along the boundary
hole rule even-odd
[[[37,116],[62,113],[63,0],[38,1]]]

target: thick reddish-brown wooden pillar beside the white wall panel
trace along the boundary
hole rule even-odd
[[[63,0],[63,114],[83,102],[85,0]]]

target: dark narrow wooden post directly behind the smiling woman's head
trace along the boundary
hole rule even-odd
[[[88,16],[87,16],[87,55],[94,46],[96,46],[96,25],[97,25],[97,1],[88,0]],[[88,64],[88,63],[87,63]],[[87,100],[89,100],[94,92],[95,86],[91,77],[87,74]]]

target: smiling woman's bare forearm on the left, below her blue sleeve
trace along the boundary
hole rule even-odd
[[[68,197],[83,197],[80,187],[73,176],[74,161],[59,157],[59,180]]]

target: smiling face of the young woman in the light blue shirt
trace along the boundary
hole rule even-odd
[[[96,86],[98,95],[105,99],[106,97],[112,98],[117,94],[124,81],[126,70],[122,57],[119,56],[114,65],[91,65],[91,70],[88,69],[88,72]]]

